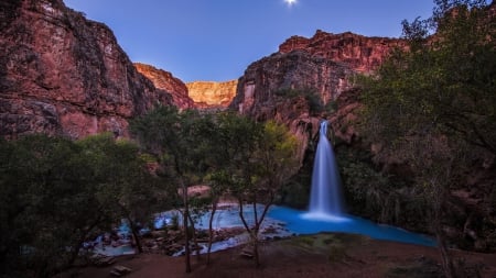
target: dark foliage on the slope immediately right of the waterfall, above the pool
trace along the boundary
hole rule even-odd
[[[336,149],[345,199],[351,213],[380,223],[428,232],[425,203],[411,187],[409,175],[387,175],[365,151],[339,146]]]

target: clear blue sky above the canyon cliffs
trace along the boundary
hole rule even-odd
[[[132,62],[183,81],[237,79],[292,35],[316,30],[399,37],[401,21],[430,16],[432,0],[64,0],[104,22]]]

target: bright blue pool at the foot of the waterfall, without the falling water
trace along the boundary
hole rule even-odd
[[[308,212],[289,209],[285,207],[272,207],[268,216],[285,224],[285,229],[295,234],[315,234],[320,232],[342,232],[362,234],[375,240],[402,242],[425,246],[435,246],[435,241],[429,236],[411,233],[406,230],[376,224],[371,221],[353,215],[342,214],[328,220],[308,218]]]

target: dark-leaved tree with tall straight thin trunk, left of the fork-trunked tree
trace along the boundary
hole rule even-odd
[[[187,187],[204,170],[204,156],[198,155],[204,145],[198,135],[201,116],[192,110],[180,112],[175,107],[158,107],[130,123],[130,131],[147,151],[159,157],[163,173],[181,189],[186,273],[191,273]]]

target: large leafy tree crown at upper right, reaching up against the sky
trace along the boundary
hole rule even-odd
[[[425,37],[425,22],[403,22],[411,52],[395,53],[379,79],[363,81],[368,133],[396,144],[438,132],[495,154],[494,19],[487,23],[482,10],[464,7],[456,8],[456,16],[441,16],[460,1],[438,2],[442,5],[430,19],[435,36]],[[462,2],[478,7],[479,1]]]

